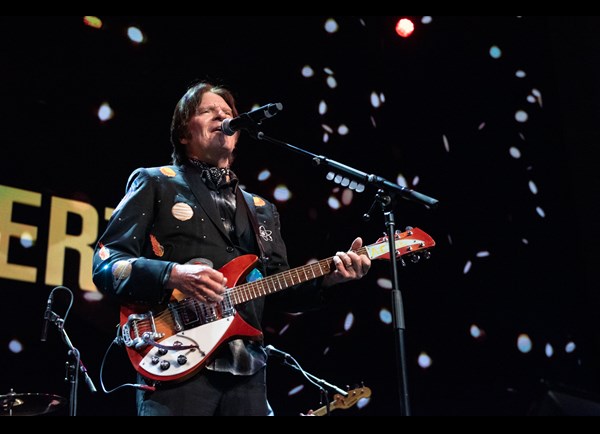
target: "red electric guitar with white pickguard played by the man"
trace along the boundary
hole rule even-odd
[[[395,242],[396,257],[410,255],[413,261],[428,258],[428,249],[435,246],[435,241],[417,228],[397,233]],[[388,239],[380,238],[356,253],[371,259],[390,259]],[[235,306],[324,276],[335,268],[331,257],[249,281],[257,261],[255,255],[243,255],[219,269],[232,286],[216,306],[186,298],[177,290],[173,291],[168,306],[160,310],[122,306],[120,335],[136,371],[145,378],[161,382],[188,378],[200,370],[224,342],[238,337],[262,336],[259,330],[237,315]]]

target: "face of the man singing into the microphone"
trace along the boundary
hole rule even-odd
[[[188,135],[181,139],[187,155],[220,167],[230,162],[238,134],[226,136],[221,132],[221,123],[231,117],[233,110],[225,100],[206,92],[188,123]]]

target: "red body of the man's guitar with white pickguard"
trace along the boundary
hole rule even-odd
[[[254,255],[240,256],[219,271],[235,286],[254,268],[257,260]],[[148,312],[147,306],[122,306],[120,324],[129,360],[145,378],[182,381],[204,367],[221,344],[239,337],[257,339],[262,336],[235,310],[225,310],[221,306],[210,308],[193,302],[177,290],[173,292],[169,307],[161,312]],[[154,341],[173,349],[145,343],[141,336],[146,332],[160,336]]]

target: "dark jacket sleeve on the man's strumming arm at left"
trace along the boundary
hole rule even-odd
[[[94,283],[100,292],[119,302],[152,305],[170,297],[165,283],[175,264],[143,257],[160,199],[159,178],[146,169],[134,171],[125,196],[96,244]]]

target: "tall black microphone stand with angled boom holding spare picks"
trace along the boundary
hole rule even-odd
[[[366,221],[370,219],[370,212],[375,208],[377,204],[381,205],[383,215],[385,216],[385,227],[386,234],[390,249],[390,258],[394,256],[393,252],[396,252],[396,222],[394,212],[392,209],[393,197],[401,197],[406,200],[420,203],[427,208],[435,208],[438,206],[438,200],[429,197],[425,194],[419,193],[415,190],[407,187],[402,187],[398,184],[387,181],[386,179],[373,175],[367,174],[360,170],[354,169],[353,167],[339,163],[335,160],[331,160],[322,155],[316,155],[308,152],[304,149],[293,146],[289,143],[277,140],[273,137],[269,137],[262,131],[258,130],[258,124],[254,128],[249,128],[248,132],[252,137],[257,140],[265,140],[276,145],[283,146],[293,152],[302,154],[310,157],[316,166],[327,166],[338,172],[338,174],[330,172],[327,175],[327,179],[340,184],[342,187],[348,187],[361,193],[365,190],[365,185],[370,185],[377,189],[375,200],[373,205],[367,214],[364,215]],[[344,175],[340,175],[342,173]],[[364,184],[363,184],[364,183]],[[406,325],[404,321],[404,306],[402,302],[402,293],[400,292],[400,286],[398,284],[398,267],[395,260],[391,260],[391,276],[392,276],[392,325],[394,329],[394,343],[396,348],[396,358],[398,360],[398,395],[400,398],[400,414],[401,416],[410,416],[410,399],[408,393],[408,370],[406,364],[406,351],[405,351],[405,330]]]

